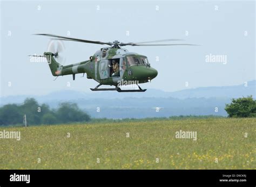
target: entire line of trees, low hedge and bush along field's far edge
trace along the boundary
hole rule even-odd
[[[228,117],[256,117],[256,100],[252,96],[232,99],[230,104],[225,107]],[[38,104],[34,98],[26,98],[24,103],[6,104],[0,107],[0,126],[22,125],[23,117],[26,115],[28,125],[55,125],[68,123],[114,123],[121,121],[137,121],[138,119],[91,119],[89,114],[79,109],[76,103],[60,103],[57,109],[50,109],[46,104]],[[214,116],[172,116],[165,119],[191,119],[191,118],[215,118]],[[139,119],[143,121],[153,120],[154,118]],[[159,118],[156,118],[159,120]],[[155,120],[156,120],[155,119]]]

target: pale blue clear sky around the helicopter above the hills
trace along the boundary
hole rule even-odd
[[[1,97],[91,92],[97,85],[82,75],[76,81],[72,75],[53,81],[48,64],[31,62],[28,56],[48,48],[49,38],[35,33],[104,42],[173,38],[184,41],[172,44],[200,45],[126,46],[146,55],[158,70],[151,83],[140,85],[146,89],[177,91],[255,80],[254,1],[1,1]],[[72,41],[64,45],[63,65],[89,60],[103,47]],[[222,59],[214,62],[214,56]]]

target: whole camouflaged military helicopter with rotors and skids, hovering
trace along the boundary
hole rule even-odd
[[[166,39],[146,42],[122,43],[117,40],[113,42],[101,42],[83,40],[69,37],[62,37],[53,34],[35,34],[51,37],[53,40],[77,41],[89,44],[108,45],[110,47],[100,48],[89,60],[62,66],[55,58],[57,52],[45,52],[44,55],[29,55],[46,57],[53,76],[72,75],[75,80],[76,74],[86,73],[87,78],[92,78],[99,84],[92,91],[116,90],[118,92],[144,92],[146,89],[140,88],[139,83],[150,82],[158,74],[157,70],[152,68],[145,55],[129,52],[122,46],[196,46],[193,44],[150,44],[153,42],[178,41],[180,39]],[[56,77],[56,78],[57,78]],[[137,84],[139,89],[122,90],[120,86]],[[114,85],[115,88],[99,88],[101,85]]]

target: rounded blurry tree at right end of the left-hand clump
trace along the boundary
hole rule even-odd
[[[76,103],[61,103],[56,111],[61,123],[89,121],[90,116],[80,110]]]

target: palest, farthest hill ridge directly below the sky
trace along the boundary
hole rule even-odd
[[[91,98],[125,98],[125,97],[173,97],[178,99],[185,98],[238,98],[242,96],[252,95],[255,97],[256,80],[249,81],[247,87],[244,84],[233,85],[228,87],[199,87],[195,89],[184,89],[174,92],[166,92],[157,89],[148,89],[146,92],[130,92],[130,93],[119,93],[116,91],[98,91],[98,92],[82,92],[73,90],[60,90],[54,91],[43,96],[33,95],[18,95],[18,96],[7,96],[2,97],[2,103],[21,103],[26,97],[36,98],[39,102],[47,102],[50,100],[76,100],[76,99],[91,99]]]

